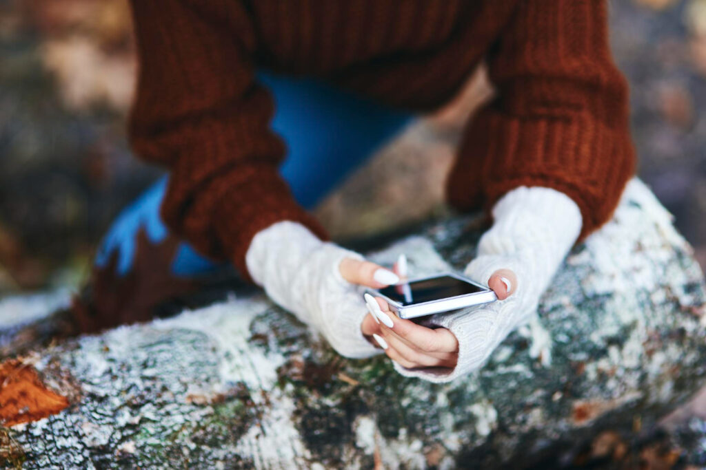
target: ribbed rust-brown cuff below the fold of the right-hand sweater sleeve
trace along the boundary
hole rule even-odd
[[[570,120],[530,122],[485,110],[469,125],[449,173],[448,201],[461,210],[481,202],[488,210],[516,187],[551,188],[580,209],[582,240],[609,221],[635,173],[628,136],[623,123],[594,123],[585,132]],[[479,148],[488,151],[479,155]]]

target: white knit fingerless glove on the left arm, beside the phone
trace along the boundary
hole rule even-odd
[[[345,357],[381,351],[361,333],[368,314],[361,290],[342,278],[342,259],[362,257],[321,242],[299,223],[283,221],[262,230],[246,254],[256,284],[270,299],[321,333]]]

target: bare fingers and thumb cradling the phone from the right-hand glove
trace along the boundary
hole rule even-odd
[[[488,284],[498,299],[503,300],[515,291],[513,286],[517,286],[517,279],[513,271],[501,269],[493,273]],[[385,350],[390,359],[407,369],[455,368],[458,340],[450,330],[427,328],[400,319],[381,297],[366,295],[366,303],[371,313],[365,317],[361,330],[374,345]]]

